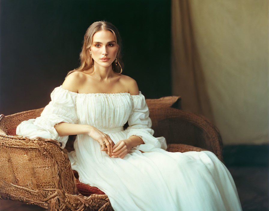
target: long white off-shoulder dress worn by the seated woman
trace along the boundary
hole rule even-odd
[[[128,121],[128,128],[123,125]],[[111,158],[87,134],[79,134],[68,153],[79,181],[107,194],[115,211],[242,210],[234,180],[210,151],[167,152],[165,138],[153,137],[145,97],[129,93],[78,94],[56,87],[40,117],[23,121],[17,135],[62,142],[54,125],[88,124],[119,140],[139,135],[145,144],[123,158]],[[144,153],[142,153],[141,151]]]

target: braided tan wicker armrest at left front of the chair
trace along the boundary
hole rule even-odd
[[[50,211],[112,210],[107,195],[81,195],[65,149],[55,140],[0,134],[0,198]],[[110,209],[111,208],[111,209]]]

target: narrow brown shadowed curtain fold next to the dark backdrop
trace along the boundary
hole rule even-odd
[[[182,109],[202,114],[214,123],[203,70],[192,29],[188,0],[172,0],[172,90],[182,97]]]

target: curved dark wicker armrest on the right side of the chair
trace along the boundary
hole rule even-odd
[[[205,117],[177,108],[168,108],[158,118],[156,125],[152,127],[155,137],[164,136],[169,144],[189,144],[210,150],[223,161],[219,130]]]

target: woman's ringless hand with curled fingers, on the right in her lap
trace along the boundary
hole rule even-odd
[[[131,139],[123,139],[118,141],[112,148],[112,157],[124,158],[132,147],[133,145]]]

